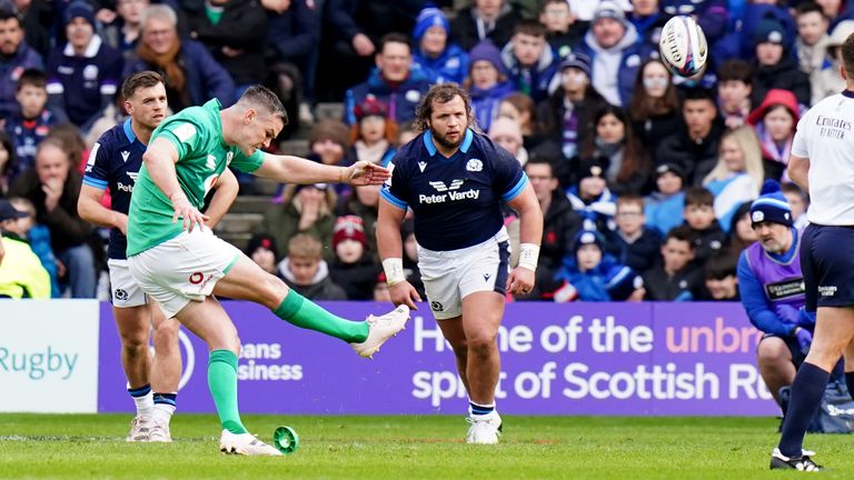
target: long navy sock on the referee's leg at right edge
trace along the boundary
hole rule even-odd
[[[783,434],[779,437],[779,452],[786,457],[801,457],[804,436],[815,416],[827,388],[831,373],[804,362],[792,384],[792,400],[783,420]]]

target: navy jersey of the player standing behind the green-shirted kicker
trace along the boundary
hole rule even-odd
[[[146,144],[137,139],[133,129],[130,128],[130,119],[107,130],[89,152],[89,161],[83,173],[83,184],[97,189],[110,191],[110,207],[121,213],[128,214],[130,208],[130,194],[137,174],[142,167],[142,153]],[[111,259],[123,260],[127,258],[128,239],[117,228],[110,231],[110,248],[108,254]]]

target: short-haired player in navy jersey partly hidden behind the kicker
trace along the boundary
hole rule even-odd
[[[169,442],[169,420],[175,412],[181,376],[178,321],[167,319],[159,306],[147,299],[130,276],[125,253],[130,196],[151,132],[166,118],[166,88],[158,73],[142,71],[125,80],[121,93],[130,118],[103,133],[92,148],[78,211],[95,224],[112,228],[108,261],[112,307],[121,337],[121,363],[128,378],[128,392],[137,406],[127,440]],[[206,212],[209,227],[226,214],[237,196],[237,179],[226,170],[215,188]],[[110,192],[111,209],[101,206],[106,190]],[[151,326],[153,359],[148,350]]]

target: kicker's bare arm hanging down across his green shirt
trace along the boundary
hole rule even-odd
[[[175,171],[175,164],[178,162],[178,150],[172,143],[163,138],[155,139],[142,156],[142,161],[155,182],[166,197],[171,200],[175,214],[172,223],[180,218],[185,230],[192,232],[195,226],[203,229],[205,222],[209,220],[208,216],[202,214],[190,203],[187,194],[181,190],[178,183],[178,174]]]

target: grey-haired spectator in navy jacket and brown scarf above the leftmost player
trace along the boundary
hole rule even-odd
[[[125,76],[153,70],[166,80],[169,108],[181,111],[217,98],[222,107],[235,98],[235,83],[208,50],[199,42],[178,38],[178,17],[162,4],[142,13],[139,60],[128,64]]]

